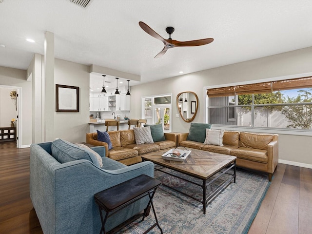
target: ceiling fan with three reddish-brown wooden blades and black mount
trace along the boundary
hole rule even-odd
[[[170,48],[178,47],[178,46],[198,46],[198,45],[206,45],[214,41],[213,38],[207,38],[207,39],[199,39],[199,40],[189,40],[189,41],[178,41],[171,39],[171,34],[175,31],[175,28],[173,27],[167,27],[166,32],[169,34],[169,39],[163,39],[161,36],[159,36],[153,29],[151,29],[146,23],[139,21],[138,24],[140,27],[149,35],[152,37],[161,40],[165,47],[160,51],[159,54],[157,54],[154,58],[159,58],[163,56],[166,51]]]

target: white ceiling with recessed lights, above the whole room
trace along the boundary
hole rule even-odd
[[[141,82],[312,46],[312,0],[93,0],[86,8],[69,0],[0,2],[0,66],[19,69],[44,54],[45,31],[54,33],[56,58],[136,74]],[[173,26],[172,39],[215,40],[154,59],[163,43],[139,21],[165,39]],[[100,74],[95,79],[103,85]]]

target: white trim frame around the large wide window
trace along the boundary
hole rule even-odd
[[[203,101],[205,106],[205,111],[203,113],[203,119],[205,123],[208,123],[209,118],[209,98],[207,96],[207,89],[213,88],[222,88],[228,86],[238,86],[238,85],[246,85],[246,84],[254,84],[254,83],[261,83],[261,82],[271,82],[271,81],[278,81],[284,79],[292,79],[292,78],[300,78],[300,77],[308,77],[312,76],[312,73],[304,73],[304,74],[295,74],[290,76],[282,76],[282,77],[275,77],[275,78],[265,78],[265,79],[257,79],[257,80],[249,80],[243,82],[235,82],[229,84],[220,84],[220,85],[212,85],[212,86],[204,86],[203,87]],[[263,106],[265,104],[261,104]],[[272,104],[269,104],[272,105]],[[280,105],[280,104],[276,104]],[[258,106],[258,105],[257,105]],[[254,116],[252,116],[252,121],[254,121]],[[272,134],[285,134],[285,135],[297,135],[297,136],[312,136],[312,129],[291,129],[291,128],[266,128],[266,127],[247,127],[247,126],[237,126],[237,125],[224,125],[224,124],[213,124],[214,129],[224,129],[224,130],[231,130],[231,131],[244,131],[244,132],[259,132],[259,133],[272,133]]]

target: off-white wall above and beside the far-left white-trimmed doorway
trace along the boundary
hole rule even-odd
[[[21,136],[21,139],[22,139],[21,140],[22,146],[30,145],[32,143],[31,142],[31,139],[32,139],[32,115],[31,115],[32,86],[31,86],[31,82],[26,80],[26,71],[0,66],[0,85],[21,87],[20,123],[21,123],[22,129],[21,129],[21,133],[19,133],[19,136]]]

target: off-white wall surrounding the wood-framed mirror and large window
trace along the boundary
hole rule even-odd
[[[239,55],[237,55],[239,56]],[[151,83],[131,87],[131,116],[141,116],[141,97],[173,93],[173,98],[180,92],[193,91],[199,98],[198,112],[193,122],[204,120],[204,86],[229,84],[241,81],[312,72],[312,47],[254,59],[205,71],[195,72],[174,78],[167,78]],[[209,62],[209,61],[207,61]],[[152,88],[153,87],[153,88]],[[188,132],[190,123],[176,117],[178,109],[173,99],[172,131]],[[291,161],[294,165],[312,168],[312,137],[279,135],[279,159]],[[308,165],[305,165],[308,164]]]

